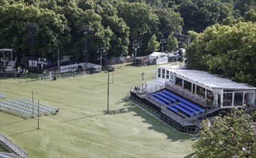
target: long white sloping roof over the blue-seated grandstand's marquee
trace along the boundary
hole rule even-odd
[[[177,69],[173,68],[172,65],[163,65],[158,68],[165,68],[166,70],[170,70],[171,72],[176,73],[183,78],[188,78],[188,81],[193,80],[195,82],[209,86],[210,88],[256,90],[256,88],[252,87],[251,85],[236,83],[230,79],[221,78],[217,75],[213,75],[205,71]]]

